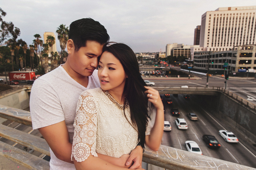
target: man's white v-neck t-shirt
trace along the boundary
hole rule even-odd
[[[53,125],[65,120],[73,143],[74,119],[80,94],[100,87],[98,70],[89,76],[87,87],[82,86],[67,74],[62,65],[39,77],[33,83],[30,94],[30,113],[33,129]],[[60,139],[61,140],[61,139]],[[50,148],[52,170],[75,170],[74,164],[58,159]]]

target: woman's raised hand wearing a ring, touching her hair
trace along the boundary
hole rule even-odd
[[[144,87],[147,89],[144,93],[149,98],[148,100],[155,106],[157,110],[158,109],[163,110],[163,103],[159,95],[159,92],[152,87],[149,87],[149,86],[144,86]]]

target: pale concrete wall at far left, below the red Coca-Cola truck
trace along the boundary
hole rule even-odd
[[[29,97],[30,93],[23,88],[0,96],[0,104],[23,110],[29,107]]]

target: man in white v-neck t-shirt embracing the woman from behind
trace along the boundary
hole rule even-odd
[[[33,129],[38,129],[50,146],[51,169],[75,169],[71,161],[71,150],[78,97],[86,89],[100,87],[95,69],[102,48],[108,41],[109,35],[99,22],[91,18],[72,22],[66,63],[41,76],[33,84],[30,94]],[[130,168],[139,168],[142,147],[137,146],[130,157],[98,156],[123,167],[130,167],[134,162]]]

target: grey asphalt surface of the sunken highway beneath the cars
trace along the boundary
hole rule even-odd
[[[248,152],[240,143],[227,143],[224,139],[218,135],[218,131],[222,130],[222,126],[215,122],[212,117],[210,117],[202,107],[193,100],[193,95],[190,100],[185,100],[182,95],[174,97],[173,106],[177,107],[180,111],[180,118],[185,118],[188,129],[179,130],[175,125],[175,119],[177,117],[170,116],[170,105],[165,105],[165,120],[171,122],[172,131],[165,131],[163,134],[162,144],[171,146],[174,148],[187,150],[185,147],[185,141],[192,140],[199,144],[203,155],[210,156],[217,159],[226,160],[229,162],[234,162],[249,167],[256,167],[256,157]],[[191,121],[186,116],[188,112],[196,113],[199,117],[198,121]],[[221,148],[218,150],[210,149],[206,146],[205,142],[202,140],[203,134],[214,135],[219,143]]]

